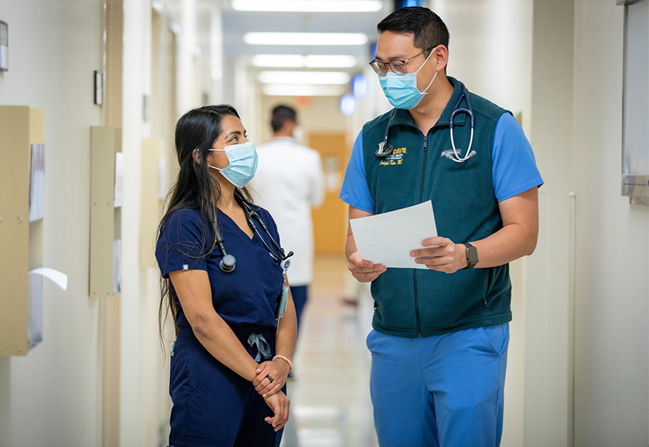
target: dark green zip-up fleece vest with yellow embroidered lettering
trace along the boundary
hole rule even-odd
[[[377,214],[430,200],[437,234],[461,244],[484,239],[502,228],[493,187],[492,148],[497,121],[507,111],[469,93],[475,117],[471,149],[476,155],[461,163],[449,160],[442,154],[452,151],[449,117],[461,93],[459,82],[450,77],[449,81],[453,95],[426,136],[407,110],[396,110],[389,122],[392,155],[375,155],[383,141],[389,112],[366,123],[363,161]],[[464,102],[460,107],[466,107]],[[468,146],[469,124],[466,114],[456,115],[454,138],[461,155]],[[372,297],[372,326],[399,337],[427,337],[511,321],[507,264],[451,274],[388,268],[372,282]]]

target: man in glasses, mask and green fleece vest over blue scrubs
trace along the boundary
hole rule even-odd
[[[348,230],[349,270],[372,282],[375,300],[368,348],[378,439],[498,446],[508,263],[535,249],[543,181],[514,117],[447,77],[449,32],[435,13],[401,8],[377,29],[370,65],[394,109],[363,126],[340,197],[350,219],[432,201],[439,234],[410,253],[425,269],[386,268],[361,258]],[[451,117],[458,108],[472,117]]]

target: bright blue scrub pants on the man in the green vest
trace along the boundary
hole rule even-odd
[[[500,445],[509,323],[367,344],[380,446]]]

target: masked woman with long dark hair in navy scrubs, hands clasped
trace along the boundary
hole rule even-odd
[[[293,367],[296,316],[289,294],[278,330],[277,299],[288,286],[278,259],[284,254],[269,237],[279,244],[272,217],[250,204],[245,189],[257,153],[227,105],[183,115],[176,151],[180,172],[156,249],[161,321],[171,311],[177,329],[169,444],[279,446],[289,418],[285,383]],[[250,226],[246,204],[267,233]],[[230,272],[219,267],[224,254],[236,257]]]

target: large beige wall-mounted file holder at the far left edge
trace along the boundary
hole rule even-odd
[[[44,144],[44,111],[0,106],[0,357],[28,353],[28,272],[43,264],[42,220],[29,219],[32,144]]]

